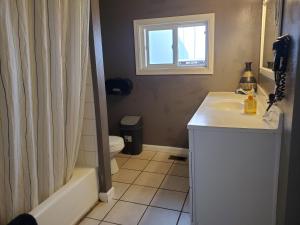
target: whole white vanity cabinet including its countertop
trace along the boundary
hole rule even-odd
[[[188,124],[194,225],[275,225],[282,115],[245,115],[244,99],[209,93]]]

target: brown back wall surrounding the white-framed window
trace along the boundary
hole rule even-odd
[[[125,114],[144,119],[144,143],[186,147],[186,125],[208,91],[236,89],[245,61],[257,71],[260,0],[101,0],[106,78],[134,83],[128,97],[108,97],[109,127],[118,134]],[[136,76],[133,20],[215,13],[213,75]]]

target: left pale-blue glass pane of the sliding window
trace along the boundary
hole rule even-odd
[[[149,35],[149,64],[173,64],[173,30],[153,30]]]

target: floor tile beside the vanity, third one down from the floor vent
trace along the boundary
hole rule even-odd
[[[181,211],[186,193],[159,189],[150,205]]]

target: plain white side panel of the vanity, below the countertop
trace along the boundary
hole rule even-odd
[[[279,154],[272,133],[191,135],[195,225],[274,225]]]

